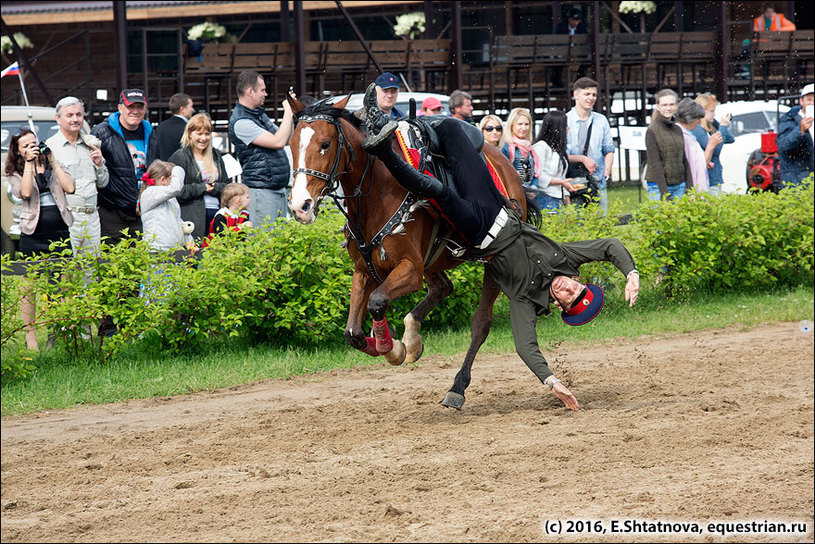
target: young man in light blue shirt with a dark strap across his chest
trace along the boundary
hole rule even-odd
[[[574,82],[574,107],[566,114],[569,126],[566,134],[566,153],[569,155],[567,177],[575,181],[586,178],[589,184],[594,183],[600,197],[600,207],[608,211],[606,184],[614,165],[614,140],[606,116],[592,111],[597,102],[598,87],[599,84],[588,77]]]

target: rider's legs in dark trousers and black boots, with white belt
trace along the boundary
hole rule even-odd
[[[379,158],[407,190],[435,200],[468,245],[485,249],[506,223],[507,212],[486,163],[461,128],[463,122],[448,117],[434,126],[442,147],[440,154],[452,172],[456,186],[453,191],[413,168],[393,150],[391,140],[398,122],[382,114],[375,84],[368,87],[363,103],[368,136],[362,148]]]

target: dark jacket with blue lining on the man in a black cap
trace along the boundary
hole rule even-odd
[[[158,144],[153,134],[153,127],[142,121],[144,138],[147,140],[147,164],[158,155]],[[107,187],[99,189],[99,205],[111,210],[119,210],[133,218],[136,214],[136,201],[139,199],[139,181],[133,167],[133,158],[127,149],[119,124],[119,112],[111,114],[91,131],[91,134],[102,141],[101,151],[108,167],[110,181]]]

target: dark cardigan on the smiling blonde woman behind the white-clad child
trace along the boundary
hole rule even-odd
[[[209,193],[218,199],[221,198],[221,193],[229,183],[226,177],[226,167],[224,161],[221,159],[221,154],[216,149],[212,150],[213,160],[215,166],[218,167],[218,179],[215,182],[215,188]],[[170,155],[170,162],[176,164],[184,169],[184,187],[181,189],[176,199],[181,205],[181,219],[184,221],[192,221],[195,224],[195,230],[192,232],[194,238],[203,238],[207,233],[207,210],[204,204],[204,193],[207,186],[201,180],[201,170],[198,168],[198,163],[195,162],[195,157],[192,154],[192,149],[189,147],[182,147],[172,155]]]

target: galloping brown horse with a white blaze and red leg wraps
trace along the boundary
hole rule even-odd
[[[434,224],[441,219],[424,201],[408,193],[380,161],[362,150],[365,133],[360,120],[345,110],[348,97],[334,105],[321,101],[308,107],[291,96],[288,99],[298,120],[290,141],[295,177],[289,207],[297,221],[309,224],[328,196],[347,219],[346,242],[354,275],[345,339],[369,355],[384,355],[393,365],[416,361],[424,349],[419,335],[422,320],[453,289],[444,270],[463,261],[444,250],[426,265]],[[510,201],[520,204],[525,219],[527,202],[518,173],[496,147],[484,145],[484,153],[503,180]],[[385,321],[388,305],[421,289],[423,278],[427,295],[405,316],[402,341],[394,340]],[[489,334],[492,307],[499,293],[485,274],[473,315],[470,347],[442,401],[445,406],[460,409],[464,404],[472,363]],[[366,338],[363,331],[368,312],[374,320],[374,338]]]

